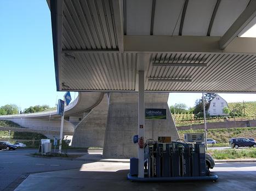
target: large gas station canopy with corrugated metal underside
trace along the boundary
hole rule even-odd
[[[58,91],[256,92],[256,0],[48,4]]]

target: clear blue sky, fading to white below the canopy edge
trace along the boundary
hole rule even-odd
[[[0,1],[0,106],[16,104],[55,106],[55,85],[50,11],[45,0]],[[76,93],[77,95],[77,93]],[[71,92],[72,99],[75,92]],[[220,94],[227,102],[256,100],[256,95]],[[199,93],[171,93],[169,105],[193,106]]]

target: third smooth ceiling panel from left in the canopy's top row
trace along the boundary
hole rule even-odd
[[[217,0],[193,0],[187,4],[182,35],[206,36]]]

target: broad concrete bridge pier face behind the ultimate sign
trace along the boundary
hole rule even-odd
[[[167,100],[169,93],[145,93],[145,108],[167,110],[167,120],[145,120],[145,140],[158,136],[179,138],[170,115]],[[129,158],[137,156],[138,145],[133,136],[138,134],[138,93],[110,93],[109,114],[103,156]]]

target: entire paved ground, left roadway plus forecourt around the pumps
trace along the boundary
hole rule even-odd
[[[256,190],[256,163],[216,163],[217,182],[138,183],[127,180],[129,163],[99,158],[101,151],[84,153],[84,160],[28,156],[37,150],[0,150],[0,190]]]

